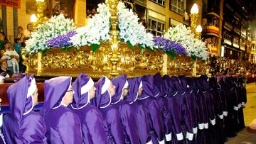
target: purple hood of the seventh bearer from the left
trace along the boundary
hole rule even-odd
[[[158,96],[158,94],[154,95],[154,79],[151,75],[147,74],[142,77],[142,96],[139,96],[138,99],[146,99],[149,96]]]

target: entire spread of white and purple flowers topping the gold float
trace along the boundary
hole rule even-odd
[[[97,12],[86,26],[80,28],[75,28],[73,20],[64,18],[63,14],[53,16],[32,32],[31,38],[26,41],[26,50],[31,54],[38,51],[46,52],[54,47],[66,50],[71,46],[78,49],[84,45],[92,45],[92,51],[95,52],[100,43],[110,40],[111,27],[110,8],[107,4],[99,4]],[[146,33],[142,23],[139,23],[138,16],[131,9],[126,9],[122,1],[117,5],[117,16],[119,40],[127,43],[130,48],[138,45],[142,50],[162,50],[170,57],[175,57],[178,53],[203,60],[208,58],[206,45],[201,40],[193,38],[193,33],[184,25],[169,28],[169,31],[164,33],[164,38],[161,38]]]

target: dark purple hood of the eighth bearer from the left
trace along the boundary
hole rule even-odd
[[[166,96],[166,86],[164,83],[164,79],[161,77],[161,74],[157,72],[157,74],[154,75],[154,86],[158,92],[159,96]]]

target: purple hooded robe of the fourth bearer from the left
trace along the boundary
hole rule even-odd
[[[102,112],[105,133],[108,143],[124,143],[124,129],[119,111],[112,106],[111,96],[108,88],[110,87],[110,79],[102,77],[95,83],[96,93],[93,99],[95,106]]]

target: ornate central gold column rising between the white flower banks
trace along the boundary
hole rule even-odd
[[[110,30],[110,43],[111,50],[110,52],[110,62],[111,62],[111,72],[110,75],[117,76],[117,62],[119,62],[119,55],[118,55],[118,34],[119,31],[117,30],[117,24],[118,24],[118,16],[117,16],[117,4],[119,3],[119,0],[109,0],[107,1],[108,6],[110,6],[110,13],[111,13],[111,30]]]

